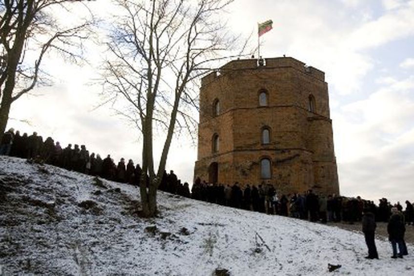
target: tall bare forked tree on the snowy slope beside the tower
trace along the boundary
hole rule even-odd
[[[234,45],[220,17],[231,1],[117,0],[120,13],[107,42],[103,93],[141,132],[144,216],[157,213],[157,188],[176,127],[197,123],[186,110],[198,105],[195,81],[221,59],[218,52]],[[117,104],[120,100],[127,104]],[[155,170],[154,132],[160,127],[165,140]]]

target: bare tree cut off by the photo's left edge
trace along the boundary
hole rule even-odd
[[[1,0],[0,2],[0,139],[12,103],[42,83],[41,62],[56,50],[72,62],[82,59],[81,41],[91,20],[67,26],[52,14],[69,12],[72,0]],[[79,3],[77,4],[82,5]]]

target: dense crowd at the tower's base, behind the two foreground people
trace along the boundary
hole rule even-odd
[[[192,186],[191,195],[194,199],[234,208],[322,222],[361,221],[364,208],[373,212],[376,221],[387,222],[393,207],[386,198],[381,198],[379,206],[376,206],[373,201],[364,200],[360,196],[325,196],[315,194],[312,190],[303,194],[279,195],[270,184],[246,185],[242,189],[237,182],[230,186],[206,183],[199,178]],[[413,205],[408,200],[405,203],[405,222],[414,225]],[[400,212],[403,211],[399,202],[395,207]]]

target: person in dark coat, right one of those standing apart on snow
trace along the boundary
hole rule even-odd
[[[405,233],[405,225],[404,219],[402,214],[398,211],[396,207],[391,208],[391,217],[388,221],[387,231],[388,231],[388,239],[391,241],[391,245],[393,247],[393,255],[392,258],[402,258],[405,250],[404,250],[404,233]],[[398,244],[398,251],[397,254],[397,244]]]

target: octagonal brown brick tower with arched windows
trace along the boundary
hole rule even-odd
[[[202,79],[194,178],[339,194],[325,73],[293,58],[237,60]]]

